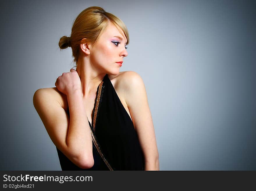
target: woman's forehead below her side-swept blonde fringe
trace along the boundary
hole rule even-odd
[[[119,30],[118,30],[119,28]],[[105,31],[102,33],[101,38],[112,38],[114,36],[119,36],[123,39],[124,42],[127,42],[124,32],[120,27],[116,28],[114,24],[109,22],[108,26],[106,27]]]

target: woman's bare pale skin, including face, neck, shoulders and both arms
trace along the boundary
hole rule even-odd
[[[159,170],[157,142],[143,80],[136,72],[120,72],[116,63],[128,55],[126,42],[122,30],[110,22],[95,46],[90,42],[80,44],[76,70],[59,76],[56,88],[39,89],[34,94],[34,106],[51,140],[80,168],[91,168],[94,164],[88,120],[92,122],[97,87],[108,74],[138,134],[144,169]]]

